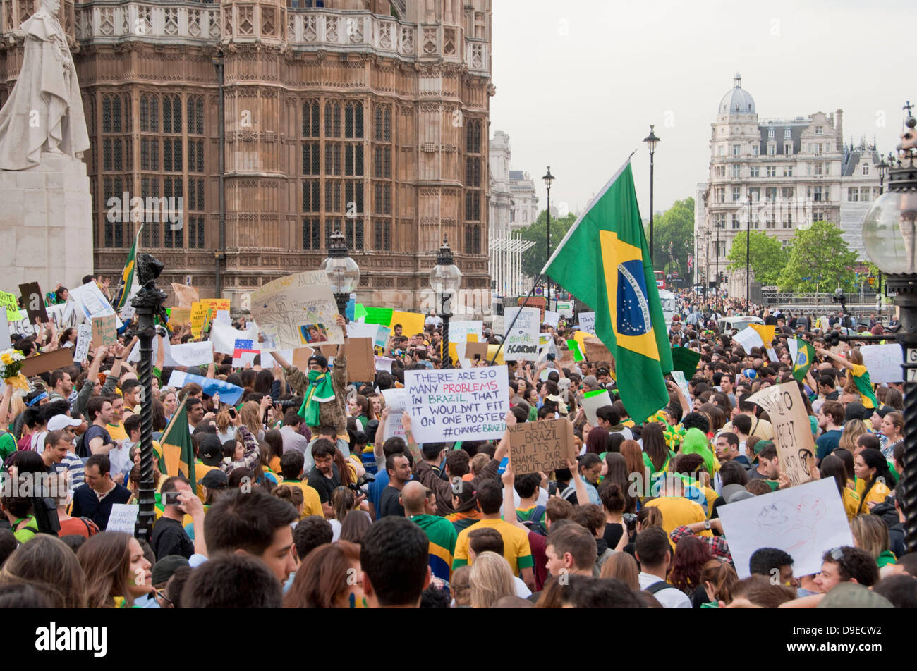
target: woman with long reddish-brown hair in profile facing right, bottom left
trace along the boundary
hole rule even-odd
[[[76,558],[86,576],[89,608],[130,608],[153,591],[152,565],[130,534],[95,534],[80,546]]]

